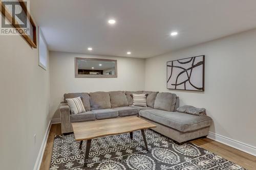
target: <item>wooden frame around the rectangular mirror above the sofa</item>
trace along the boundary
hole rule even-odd
[[[115,62],[115,75],[78,75],[78,59]],[[75,57],[75,78],[117,78],[117,60]]]

